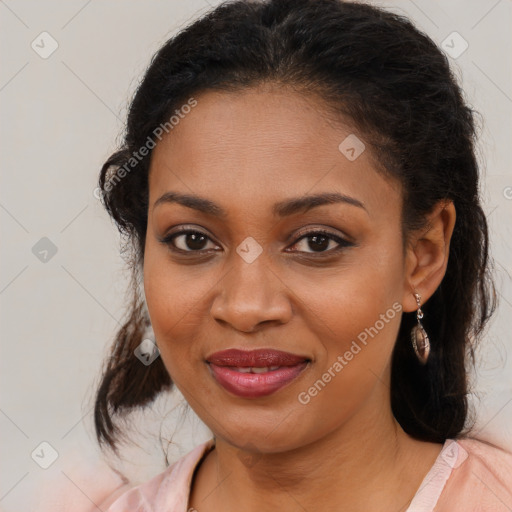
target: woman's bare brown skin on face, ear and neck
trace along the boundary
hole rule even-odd
[[[414,290],[422,304],[434,293],[446,271],[453,204],[436,205],[404,254],[398,182],[378,172],[368,146],[355,161],[339,151],[357,132],[331,122],[318,99],[268,85],[196,99],[152,154],[144,259],[163,362],[216,436],[189,507],[405,510],[442,446],[412,439],[391,412],[390,358],[402,313],[309,403],[297,397],[394,303],[411,312]],[[227,216],[155,207],[169,191],[205,197]],[[364,209],[335,203],[272,213],[274,203],[321,192],[351,196]],[[207,235],[203,256],[183,235],[174,244],[186,254],[159,241],[186,228]],[[319,228],[354,245],[336,252],[331,240],[318,249],[304,234]],[[252,263],[236,252],[247,237],[263,250]],[[244,399],[218,385],[205,363],[233,347],[272,347],[311,363],[273,395]]]

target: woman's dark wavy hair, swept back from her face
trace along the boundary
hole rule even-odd
[[[424,366],[417,361],[410,342],[415,314],[404,313],[392,358],[391,406],[417,439],[460,437],[469,419],[468,364],[497,300],[474,111],[444,53],[403,16],[341,0],[238,0],[210,10],[153,56],[131,102],[122,146],[101,169],[102,202],[132,250],[132,296],[96,393],[100,446],[117,451],[120,420],[172,387],[161,358],[145,366],[134,356],[150,327],[140,275],[151,150],[143,157],[138,152],[193,95],[263,83],[315,94],[364,135],[380,172],[402,184],[404,244],[438,201],[454,202],[446,274],[423,306],[430,358]]]

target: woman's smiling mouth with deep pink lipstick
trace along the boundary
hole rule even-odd
[[[272,349],[216,352],[206,359],[215,381],[242,398],[260,398],[282,389],[309,365],[307,356]]]

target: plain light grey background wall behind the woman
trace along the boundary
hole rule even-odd
[[[80,457],[85,467],[99,457],[94,383],[127,280],[117,230],[94,196],[98,172],[153,52],[217,3],[0,0],[2,510],[28,510],[49,475],[79,487],[69,461]],[[479,437],[512,449],[511,1],[375,3],[406,13],[440,45],[453,31],[469,43],[451,62],[483,116],[479,157],[501,300],[478,353],[474,403]],[[47,59],[31,47],[42,46],[43,31],[58,43]],[[46,263],[32,252],[43,237],[57,247]],[[137,454],[124,466],[134,479],[163,469],[155,418],[169,403],[179,396],[157,403],[141,430],[147,446],[127,455]],[[192,413],[184,421],[171,459],[209,437]],[[177,427],[171,415],[167,425]],[[59,453],[47,470],[31,458],[42,441]]]

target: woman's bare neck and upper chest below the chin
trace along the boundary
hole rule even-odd
[[[405,510],[441,445],[408,436],[381,387],[381,396],[341,427],[294,450],[244,458],[217,438],[199,468],[205,492],[194,493],[191,504],[201,512]]]

